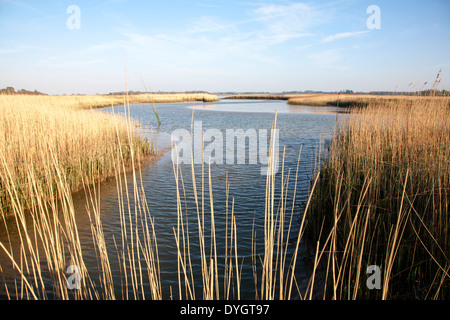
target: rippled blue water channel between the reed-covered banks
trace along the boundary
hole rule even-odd
[[[200,212],[205,216],[205,247],[208,262],[212,249],[210,239],[210,187],[212,187],[220,297],[223,298],[225,295],[224,258],[226,254],[229,255],[225,252],[226,246],[229,250],[229,243],[225,244],[225,238],[228,232],[229,240],[230,216],[233,211],[236,219],[237,261],[241,279],[240,298],[257,298],[255,292],[261,289],[261,274],[259,267],[256,266],[258,278],[255,281],[253,262],[256,261],[258,265],[264,254],[267,152],[275,111],[277,112],[276,128],[279,130],[277,145],[279,162],[273,167],[276,172],[275,203],[281,196],[281,182],[284,179],[283,214],[285,214],[286,230],[288,230],[288,223],[292,221],[291,232],[288,234],[285,231],[284,239],[288,243],[287,266],[291,262],[291,254],[297,239],[296,230],[299,229],[303,208],[310,194],[314,167],[319,165],[321,156],[326,156],[326,146],[332,137],[337,116],[345,115],[341,113],[337,115],[336,108],[332,107],[290,106],[286,101],[278,100],[223,99],[214,103],[156,104],[155,108],[161,119],[160,126],[157,126],[150,104],[132,104],[129,107],[129,113],[132,118],[139,121],[138,130],[141,135],[154,141],[158,151],[162,151],[158,159],[142,167],[141,177],[148,209],[154,219],[164,299],[179,298],[179,265],[174,236],[174,228],[178,223],[178,204],[181,204],[184,222],[188,223],[188,230],[185,231],[189,235],[196,297],[202,298],[197,209],[194,201],[192,167],[188,163],[189,158],[186,157],[190,150],[187,148],[181,150],[183,141],[185,143],[188,141],[187,134],[190,134],[191,130],[194,140],[200,137],[200,149],[194,146],[193,160],[198,204],[202,206],[203,203],[203,210],[200,207]],[[101,109],[101,112],[108,113],[112,110],[105,108]],[[124,113],[124,107],[114,107],[114,113]],[[198,153],[198,150],[201,150],[202,137],[205,152],[208,151],[208,160],[203,159],[203,163],[201,152],[200,155],[195,155],[195,152]],[[171,139],[178,141],[177,149],[170,149]],[[180,177],[178,178],[181,195],[179,203],[176,196],[177,185],[173,162],[177,158],[174,155],[178,155],[178,160],[185,160],[184,163],[181,161],[179,163],[182,174],[182,181]],[[297,171],[298,159],[300,161]],[[211,161],[210,165],[209,161]],[[204,172],[203,193],[202,170]],[[295,181],[296,177],[297,181]],[[181,183],[184,189],[181,189]],[[84,193],[75,194],[74,202],[79,235],[85,250],[83,256],[88,269],[90,267],[95,269],[97,267],[96,252],[90,245],[92,235],[86,215]],[[120,246],[121,221],[114,181],[101,184],[99,204],[105,245],[108,252],[111,252],[112,277],[117,287],[117,296],[121,297],[126,290],[131,289],[124,288],[123,261],[120,261],[115,253],[117,246]],[[143,273],[145,278],[145,272]],[[96,276],[91,277],[96,278]],[[309,275],[300,255],[296,267],[296,278],[300,283],[307,277]],[[0,279],[0,282],[2,281]],[[230,298],[237,297],[236,284],[234,283],[233,286],[229,291]],[[149,288],[145,284],[142,288],[139,287],[139,291],[145,293],[146,290]],[[182,292],[185,292],[184,288]],[[130,296],[132,297],[131,293]]]

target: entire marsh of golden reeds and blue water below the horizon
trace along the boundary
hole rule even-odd
[[[2,298],[449,296],[448,97],[0,98]],[[277,149],[179,163],[196,121],[278,129]]]

